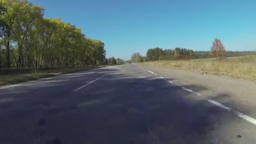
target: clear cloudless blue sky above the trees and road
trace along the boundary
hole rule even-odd
[[[105,43],[107,57],[148,48],[256,50],[256,0],[29,0]]]

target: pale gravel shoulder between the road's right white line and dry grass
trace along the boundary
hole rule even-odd
[[[256,118],[256,112],[252,111],[256,108],[255,81],[225,75],[201,74],[183,69],[140,65],[159,76],[202,94],[206,99],[213,99]]]

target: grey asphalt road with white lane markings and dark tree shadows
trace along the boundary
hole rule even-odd
[[[169,81],[125,64],[2,87],[0,144],[256,143],[256,125]]]

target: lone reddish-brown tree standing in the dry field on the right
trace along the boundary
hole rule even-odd
[[[211,54],[213,57],[222,57],[224,53],[226,53],[225,47],[221,43],[221,40],[216,38],[211,47]]]

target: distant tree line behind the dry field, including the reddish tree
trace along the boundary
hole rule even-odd
[[[256,51],[226,51],[220,39],[215,39],[210,51],[193,51],[188,48],[149,48],[146,57],[133,53],[133,62],[176,60],[176,59],[208,59],[213,57],[237,57],[256,55]]]

